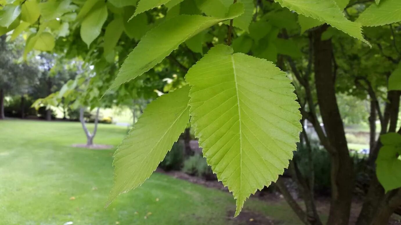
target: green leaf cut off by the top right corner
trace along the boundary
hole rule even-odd
[[[379,5],[371,4],[363,11],[356,22],[362,26],[382,26],[401,21],[401,1],[385,0]]]

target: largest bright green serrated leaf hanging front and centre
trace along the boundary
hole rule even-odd
[[[229,46],[212,48],[186,75],[190,115],[219,181],[245,200],[288,167],[301,131],[294,86],[273,63]]]

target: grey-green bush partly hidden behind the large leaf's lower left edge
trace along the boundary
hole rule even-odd
[[[206,158],[203,158],[198,153],[195,153],[195,155],[190,156],[184,161],[182,171],[188,175],[203,177],[206,180],[217,179],[216,175],[212,172],[212,168],[207,165]]]

